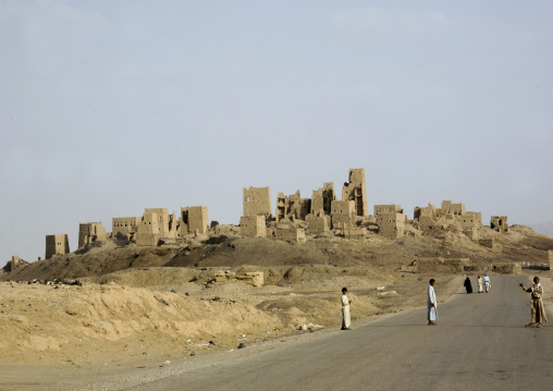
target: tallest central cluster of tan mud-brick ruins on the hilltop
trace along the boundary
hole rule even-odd
[[[397,222],[397,219],[401,221]],[[397,218],[394,216],[394,219],[381,221],[382,233],[402,236],[404,224],[402,212]],[[378,231],[377,219],[368,216],[364,169],[349,170],[342,199],[336,198],[332,182],[314,191],[311,198],[302,198],[299,191],[291,195],[279,193],[274,215],[269,187],[244,188],[244,216],[241,218],[244,236],[304,242],[306,234],[333,230],[347,237],[364,237],[368,230]]]

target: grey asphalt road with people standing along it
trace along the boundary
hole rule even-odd
[[[439,304],[438,326],[419,308],[133,390],[552,390],[553,328],[524,327],[521,281],[530,283],[492,277],[488,294],[459,290]],[[440,300],[439,281],[435,290]]]

